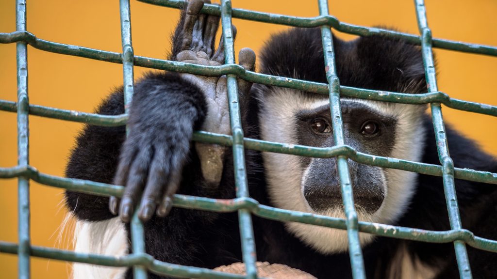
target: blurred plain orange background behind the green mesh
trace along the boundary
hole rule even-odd
[[[317,1],[233,0],[233,7],[312,17]],[[330,13],[347,23],[384,25],[418,34],[414,1],[330,0]],[[433,37],[497,46],[497,2],[494,0],[426,0]],[[131,1],[135,55],[165,59],[178,11]],[[273,33],[288,27],[233,19],[236,51],[258,52]],[[28,0],[27,30],[38,38],[121,52],[119,1]],[[0,0],[0,32],[15,31],[15,1]],[[335,32],[340,38],[354,36]],[[15,44],[0,44],[0,99],[16,101]],[[497,58],[435,49],[439,90],[453,98],[497,105]],[[31,104],[92,112],[115,86],[122,84],[122,65],[64,56],[28,46]],[[140,78],[147,69],[135,67]],[[444,118],[488,152],[497,155],[497,118],[444,108]],[[82,124],[30,116],[30,164],[41,172],[63,176],[69,151]],[[0,167],[17,163],[16,115],[0,111]],[[449,142],[450,147],[450,142]],[[16,180],[0,180],[0,240],[17,242]],[[61,189],[31,182],[32,244],[72,249]],[[0,254],[1,278],[16,278],[17,257]],[[32,258],[32,278],[67,278],[70,264]]]

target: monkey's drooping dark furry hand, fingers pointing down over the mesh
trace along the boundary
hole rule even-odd
[[[201,127],[207,113],[203,93],[178,74],[148,76],[135,92],[129,135],[114,179],[126,187],[120,205],[124,221],[129,221],[140,200],[142,219],[149,219],[159,204],[157,212],[166,215],[170,197],[181,182],[193,131]],[[163,197],[169,201],[161,203]],[[111,198],[109,207],[117,214],[118,200]]]

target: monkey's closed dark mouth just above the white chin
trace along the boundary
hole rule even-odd
[[[306,198],[311,209],[316,212],[323,212],[336,207],[343,208],[343,202],[340,195],[304,193],[304,197]],[[373,195],[368,197],[354,195],[354,206],[356,210],[372,214],[380,209],[381,204],[383,203],[383,198],[383,195]]]

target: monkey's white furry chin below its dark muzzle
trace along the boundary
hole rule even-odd
[[[325,211],[315,212],[336,218],[345,218],[345,213],[341,207],[334,207]],[[373,221],[373,214],[364,210],[357,210],[359,221]],[[337,254],[348,251],[347,230],[322,227],[304,223],[287,222],[285,226],[306,245],[312,247],[322,254]],[[359,232],[359,242],[361,247],[371,243],[374,235]]]

